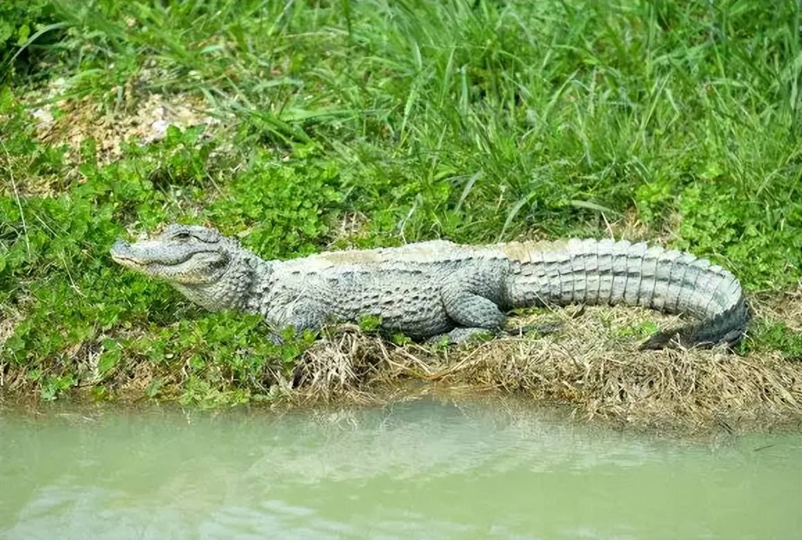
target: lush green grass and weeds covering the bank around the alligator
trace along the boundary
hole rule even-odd
[[[269,258],[611,223],[751,293],[800,283],[794,0],[10,0],[0,67],[0,318],[22,316],[0,371],[47,399],[105,396],[144,362],[183,369],[186,400],[247,400],[292,369],[303,343],[277,349],[257,319],[113,266],[115,237],[166,221],[245,233]],[[110,164],[87,140],[76,160],[30,117],[59,78],[100,112],[182,95],[222,124],[132,140]],[[799,343],[764,323],[747,347],[798,358]]]

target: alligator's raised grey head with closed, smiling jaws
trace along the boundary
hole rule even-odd
[[[169,225],[148,240],[118,240],[111,258],[152,278],[169,282],[209,310],[243,307],[256,257],[215,229]]]

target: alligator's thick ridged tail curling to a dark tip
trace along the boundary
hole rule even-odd
[[[613,240],[510,242],[510,307],[577,302],[650,307],[694,323],[654,335],[644,348],[735,345],[750,319],[738,279],[721,266],[676,250]]]

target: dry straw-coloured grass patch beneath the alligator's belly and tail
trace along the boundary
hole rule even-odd
[[[644,315],[597,307],[577,319],[562,315],[553,335],[444,350],[340,331],[306,351],[286,387],[303,404],[366,401],[409,381],[497,390],[569,404],[586,420],[644,428],[739,430],[802,422],[802,363],[779,353],[638,351],[640,339],[621,331]]]

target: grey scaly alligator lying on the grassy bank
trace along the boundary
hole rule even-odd
[[[685,315],[642,348],[732,347],[750,310],[733,274],[704,258],[612,239],[465,246],[431,240],[265,261],[237,240],[198,225],[169,225],[140,242],[118,240],[111,257],[172,284],[208,310],[260,314],[277,338],[286,327],[378,317],[379,329],[412,339],[462,342],[500,333],[515,308],[625,304]]]

